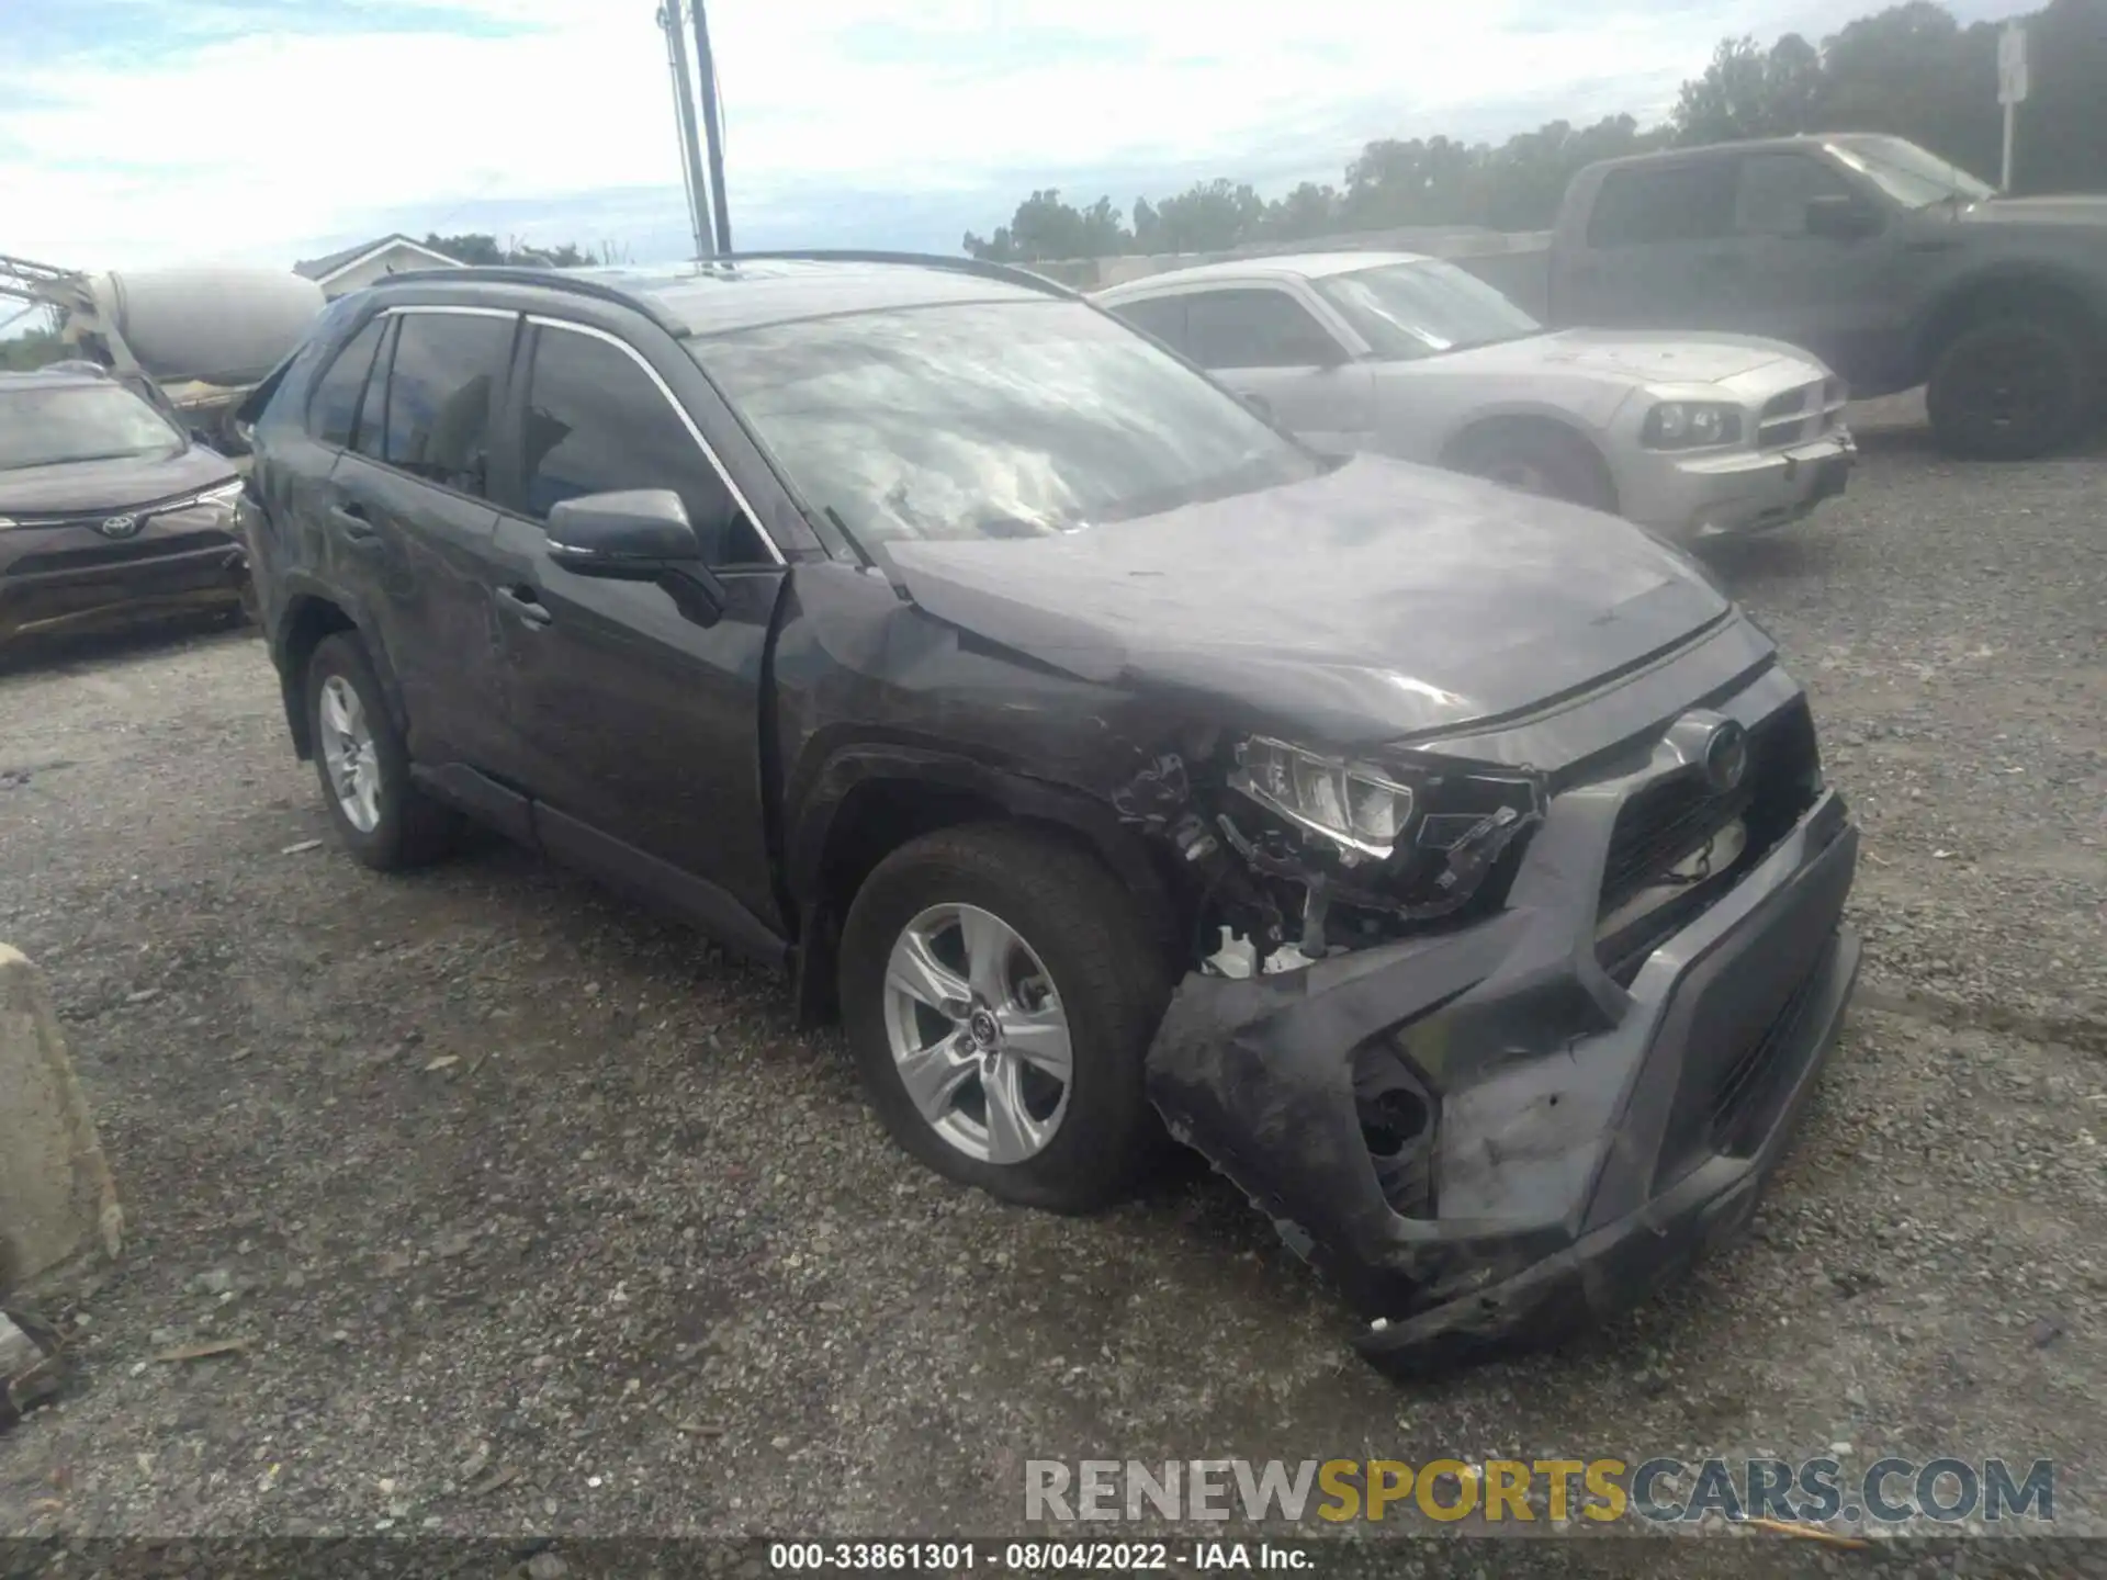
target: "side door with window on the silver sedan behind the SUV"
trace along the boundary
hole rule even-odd
[[[1311,445],[1367,445],[1374,375],[1285,287],[1239,284],[1186,291],[1186,356],[1243,396],[1256,396]]]

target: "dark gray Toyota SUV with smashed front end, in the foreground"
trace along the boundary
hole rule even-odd
[[[405,274],[249,421],[350,855],[478,817],[790,967],[1007,1201],[1117,1199],[1161,1114],[1374,1357],[1635,1300],[1835,1036],[1858,836],[1696,567],[1321,457],[1037,276]]]

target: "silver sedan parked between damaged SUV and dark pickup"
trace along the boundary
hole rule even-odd
[[[1412,253],[1207,263],[1096,293],[1317,449],[1374,449],[1673,539],[1806,516],[1856,447],[1844,381],[1783,341],[1547,331]]]

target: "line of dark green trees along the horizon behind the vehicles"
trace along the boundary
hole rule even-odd
[[[2014,192],[2107,190],[2107,0],[2050,0],[2027,21],[2029,99],[2014,139]],[[1110,198],[1087,209],[1058,187],[1032,192],[992,236],[965,251],[995,261],[1212,253],[1245,242],[1393,230],[1488,225],[1547,230],[1582,164],[1656,147],[1740,137],[1892,133],[1995,181],[2002,23],[1970,27],[1936,0],[1907,0],[1848,23],[1818,46],[1787,34],[1770,48],[1728,38],[1702,76],[1683,82],[1660,126],[1606,116],[1553,120],[1500,145],[1452,137],[1367,143],[1334,183],[1304,181],[1262,198],[1247,181],[1197,181],[1169,198]]]

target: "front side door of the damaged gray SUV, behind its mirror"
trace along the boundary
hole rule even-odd
[[[702,434],[649,362],[598,329],[535,320],[518,497],[497,525],[491,607],[516,773],[552,849],[588,866],[702,878],[775,925],[763,826],[761,695],[786,571],[744,520]],[[560,499],[672,489],[727,592],[710,624],[659,586],[571,575],[548,556]],[[714,522],[714,529],[710,527]],[[729,527],[725,522],[731,522]],[[622,847],[622,849],[617,849]]]

